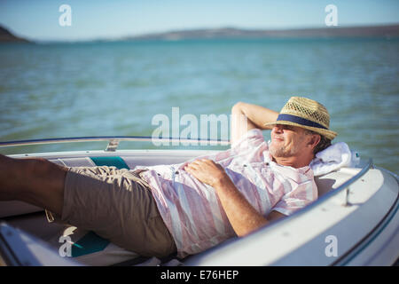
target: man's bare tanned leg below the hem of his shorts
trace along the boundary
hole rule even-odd
[[[61,216],[66,168],[42,158],[0,154],[0,201],[19,200]]]

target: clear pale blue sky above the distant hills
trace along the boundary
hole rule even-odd
[[[62,26],[62,4],[71,25]],[[118,39],[192,28],[325,28],[399,23],[399,0],[0,0],[0,25],[36,41]],[[65,19],[64,17],[62,19]]]

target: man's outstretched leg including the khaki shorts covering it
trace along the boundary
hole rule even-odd
[[[135,174],[102,167],[72,168],[66,177],[67,172],[44,159],[0,154],[0,200],[26,201],[48,209],[67,224],[94,231],[143,256],[176,251],[151,188]]]

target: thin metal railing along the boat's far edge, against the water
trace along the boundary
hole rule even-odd
[[[76,138],[45,138],[45,139],[30,139],[30,140],[14,140],[0,142],[0,147],[6,146],[33,146],[59,143],[76,143],[76,142],[101,142],[107,141],[106,152],[113,152],[119,146],[121,141],[139,141],[139,142],[168,142],[168,143],[198,143],[198,145],[213,145],[213,146],[227,146],[230,145],[229,140],[222,139],[200,139],[200,138],[159,138],[147,136],[91,136],[91,137],[76,137]]]

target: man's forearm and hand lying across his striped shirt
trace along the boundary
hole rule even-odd
[[[266,218],[263,217],[246,201],[223,167],[212,160],[196,160],[188,164],[184,170],[215,188],[231,226],[239,237],[269,224],[270,221],[285,217],[277,211],[272,211]]]

